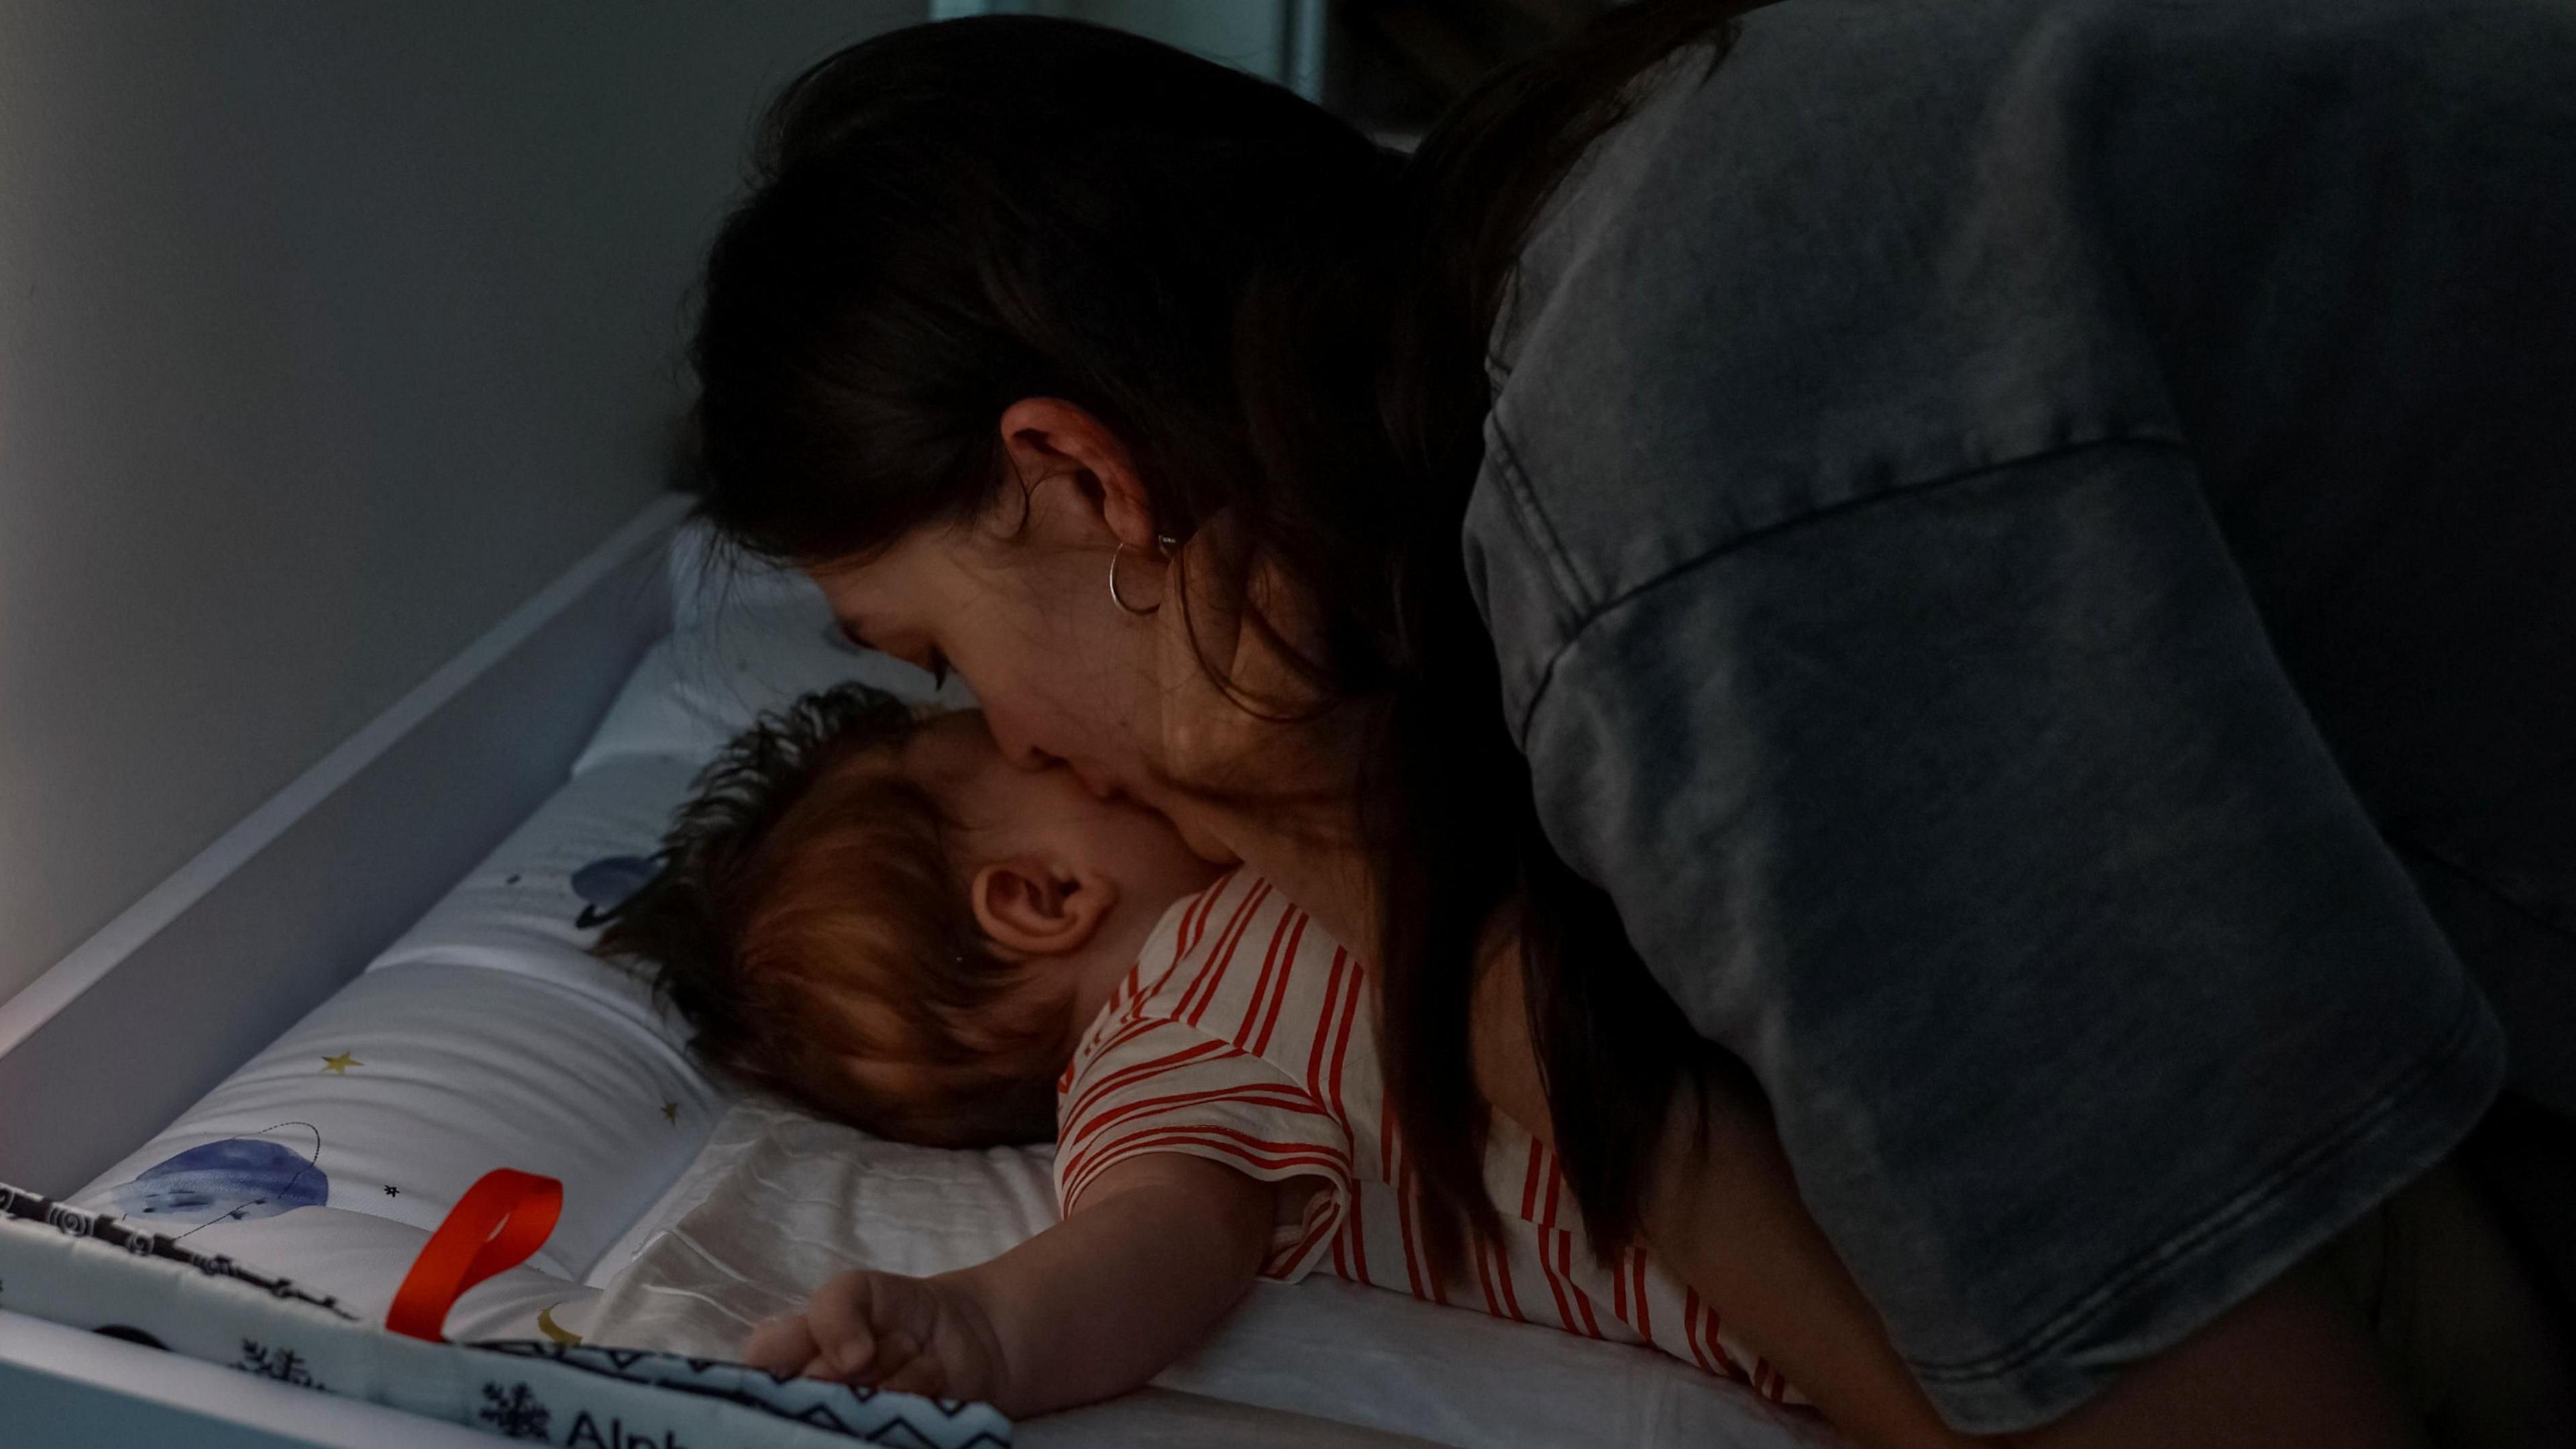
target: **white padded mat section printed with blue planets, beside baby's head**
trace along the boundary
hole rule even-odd
[[[791,575],[672,547],[677,629],[636,665],[572,779],[353,982],[70,1201],[325,1284],[379,1318],[482,1173],[564,1183],[546,1248],[459,1302],[459,1338],[582,1333],[621,1238],[729,1093],[636,972],[590,957],[690,779],[755,714],[840,681],[961,704],[855,650]]]

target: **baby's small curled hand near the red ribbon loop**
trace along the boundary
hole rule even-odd
[[[814,1289],[804,1312],[762,1323],[742,1361],[930,1397],[1002,1397],[992,1318],[951,1279],[855,1271]]]

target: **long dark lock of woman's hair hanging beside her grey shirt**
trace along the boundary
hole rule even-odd
[[[1556,1155],[1607,1261],[1638,1232],[1646,1171],[1677,1106],[1698,1104],[1716,1057],[1656,985],[1610,895],[1574,874],[1538,822],[1530,761],[1502,714],[1494,639],[1458,559],[1458,529],[1484,464],[1489,340],[1504,291],[1558,180],[1625,119],[1633,83],[1700,44],[1716,67],[1744,0],[1643,0],[1564,46],[1512,64],[1458,101],[1406,173],[1388,286],[1391,325],[1373,382],[1404,480],[1391,559],[1401,657],[1386,745],[1365,799],[1383,812],[1373,856],[1383,900],[1386,1083],[1425,1183],[1489,1235],[1484,1124],[1468,1070],[1476,944],[1517,905],[1522,993]],[[1685,1093],[1687,1088],[1687,1093]],[[1435,1256],[1453,1217],[1427,1214]]]

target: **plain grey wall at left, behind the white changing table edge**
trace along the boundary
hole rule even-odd
[[[0,5],[0,998],[649,503],[747,121],[925,10]]]

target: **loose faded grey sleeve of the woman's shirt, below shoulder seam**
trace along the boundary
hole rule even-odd
[[[1953,1421],[2017,1428],[2437,1160],[2496,1024],[2272,655],[2190,454],[2097,443],[1602,608],[1543,825]]]

